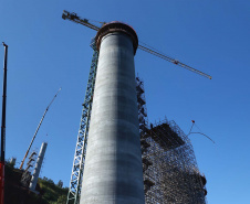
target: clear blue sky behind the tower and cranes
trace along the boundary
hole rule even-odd
[[[216,141],[190,136],[208,180],[208,202],[250,203],[248,0],[0,0],[0,42],[9,45],[7,158],[17,157],[20,165],[43,111],[62,87],[32,149],[49,142],[41,176],[69,186],[95,32],[63,21],[64,9],[97,21],[124,21],[139,41],[212,75],[209,80],[143,51],[135,56],[149,120],[166,116],[187,133],[194,119]]]

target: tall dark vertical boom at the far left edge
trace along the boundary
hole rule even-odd
[[[4,46],[3,90],[2,90],[2,124],[1,124],[1,161],[0,161],[0,204],[4,204],[4,160],[6,160],[6,98],[7,98],[7,56],[8,45]]]

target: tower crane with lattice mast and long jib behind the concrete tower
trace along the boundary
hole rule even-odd
[[[91,20],[80,18],[76,13],[74,13],[74,12],[71,13],[65,10],[63,11],[62,19],[70,20],[77,24],[82,24],[82,25],[87,26],[95,31],[98,31],[103,25],[106,24],[106,22],[98,22],[101,24],[101,26],[96,26],[95,24],[90,22]],[[79,129],[79,135],[77,135],[77,141],[76,141],[75,154],[74,154],[74,160],[73,160],[73,168],[72,168],[71,182],[70,182],[70,186],[69,186],[66,204],[79,204],[80,195],[81,195],[81,183],[82,183],[84,164],[85,164],[85,153],[86,153],[86,147],[87,147],[88,127],[90,127],[91,111],[92,111],[92,100],[93,100],[95,75],[96,75],[97,61],[98,61],[98,52],[96,50],[96,46],[98,46],[98,45],[96,45],[94,42],[94,43],[92,43],[91,46],[94,50],[94,54],[93,54],[91,71],[90,71],[90,75],[88,75],[85,99],[83,103],[83,109],[82,109],[82,116],[81,116],[80,129]],[[188,71],[191,71],[196,74],[199,74],[204,77],[211,79],[210,75],[205,74],[196,68],[192,68],[192,67],[190,67],[173,57],[169,57],[163,53],[159,53],[157,50],[152,49],[148,45],[139,44],[138,49],[144,52],[147,52],[149,54],[153,54],[157,57],[160,57],[165,61],[168,61],[175,65],[178,65],[183,68],[186,68]]]

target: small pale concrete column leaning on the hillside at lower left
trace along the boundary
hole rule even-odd
[[[41,146],[39,157],[38,157],[38,160],[37,160],[37,163],[35,163],[35,168],[34,168],[34,172],[33,172],[33,175],[32,175],[31,182],[30,182],[30,190],[31,191],[35,190],[38,179],[39,179],[39,173],[40,173],[40,170],[41,170],[41,167],[42,167],[42,161],[43,161],[43,158],[44,158],[44,154],[45,154],[45,151],[46,151],[46,146],[48,146],[46,142],[43,142],[42,146]]]

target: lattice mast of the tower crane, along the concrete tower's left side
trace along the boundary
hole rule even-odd
[[[95,87],[95,76],[98,62],[98,52],[96,51],[95,41],[92,40],[91,47],[94,50],[88,82],[86,87],[85,99],[83,103],[82,117],[80,122],[77,142],[75,148],[71,182],[69,187],[66,204],[79,204],[82,187],[82,176],[85,163],[87,147],[88,127],[91,120],[92,100]]]

